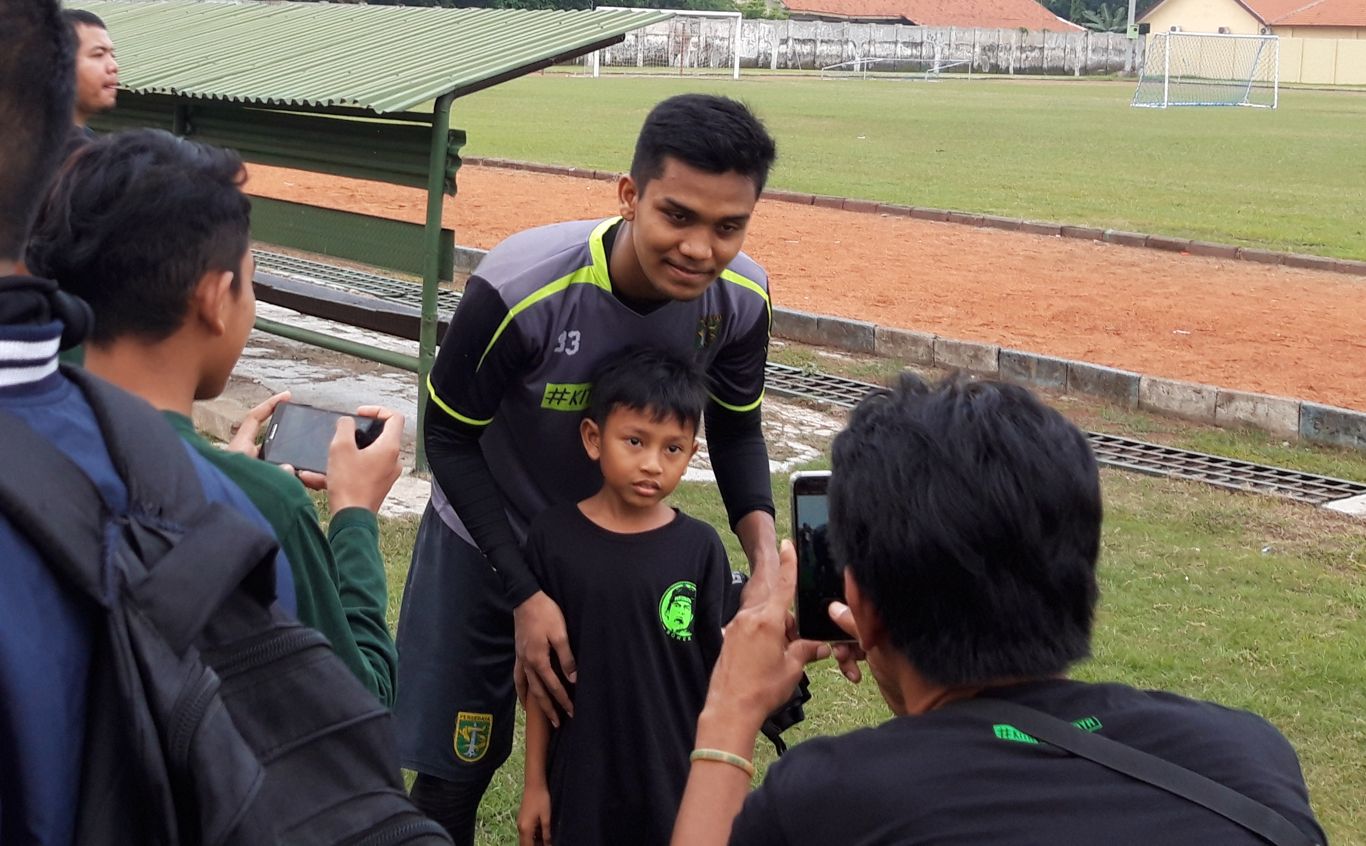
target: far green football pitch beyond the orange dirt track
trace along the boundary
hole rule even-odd
[[[684,90],[768,122],[773,187],[1366,258],[1361,92],[1161,111],[1130,108],[1132,82],[544,75],[452,123],[469,156],[624,169],[649,107]]]

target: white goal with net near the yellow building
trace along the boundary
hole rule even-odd
[[[1276,108],[1280,40],[1276,36],[1156,33],[1131,105],[1250,105]]]

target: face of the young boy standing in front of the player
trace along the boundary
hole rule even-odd
[[[697,452],[697,429],[673,417],[617,407],[581,428],[583,448],[602,470],[602,485],[627,506],[647,508],[673,492]]]

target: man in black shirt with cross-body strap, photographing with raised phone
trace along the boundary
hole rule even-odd
[[[1090,652],[1100,529],[1086,437],[1024,388],[903,377],[870,394],[832,448],[829,541],[848,604],[831,616],[895,716],[794,748],[746,798],[759,723],[806,661],[829,655],[788,640],[796,563],[784,544],[776,589],[727,629],[673,843],[1268,842],[1068,756],[1087,746],[1067,746],[1071,735],[1243,794],[1265,806],[1253,816],[1283,817],[1281,843],[1324,843],[1295,750],[1266,720],[1065,678]]]

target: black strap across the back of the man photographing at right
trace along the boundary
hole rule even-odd
[[[949,708],[1008,723],[1049,746],[1208,808],[1274,846],[1317,846],[1277,810],[1232,787],[1128,743],[1083,731],[1037,708],[993,697],[974,697]]]

